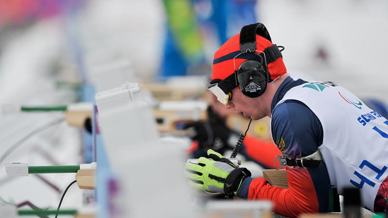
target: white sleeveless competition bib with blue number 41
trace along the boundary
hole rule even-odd
[[[342,194],[358,187],[361,206],[373,211],[380,184],[388,175],[388,121],[348,90],[332,82],[309,82],[291,88],[288,99],[303,102],[321,121],[319,147],[330,185]]]

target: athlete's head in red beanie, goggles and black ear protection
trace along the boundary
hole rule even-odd
[[[252,24],[215,52],[208,89],[226,108],[260,119],[265,115],[259,113],[266,106],[259,102],[270,93],[268,84],[286,73],[280,50],[271,42],[267,29],[260,23]]]

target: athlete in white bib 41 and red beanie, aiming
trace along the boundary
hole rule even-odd
[[[253,120],[271,117],[289,188],[251,178],[212,150],[213,160],[186,164],[193,187],[270,200],[286,217],[332,211],[333,192],[354,187],[362,207],[387,213],[387,119],[336,83],[293,80],[263,24],[243,27],[218,49],[208,89],[227,109]]]

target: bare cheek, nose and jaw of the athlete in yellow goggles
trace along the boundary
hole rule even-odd
[[[225,108],[234,109],[236,113],[242,112],[244,117],[251,117],[252,120],[259,120],[267,116],[263,95],[250,98],[243,95],[239,89],[233,89],[232,100],[226,104]]]

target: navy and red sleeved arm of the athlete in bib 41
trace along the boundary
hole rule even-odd
[[[272,113],[272,135],[284,156],[308,156],[322,144],[323,130],[315,114],[304,104],[286,101]],[[283,216],[326,212],[329,207],[329,177],[323,162],[318,168],[287,167],[289,188],[273,187],[263,178],[247,178],[238,196],[270,200],[274,211]]]

